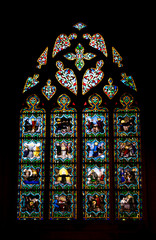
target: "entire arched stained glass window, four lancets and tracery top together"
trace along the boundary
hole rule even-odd
[[[123,94],[136,83],[120,49],[86,29],[46,45],[25,79],[46,110],[34,94],[20,112],[19,220],[142,219],[140,109]]]

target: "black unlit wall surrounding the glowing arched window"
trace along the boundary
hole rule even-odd
[[[10,235],[16,239],[70,240],[95,238],[140,239],[149,236],[154,239],[154,236],[156,236],[156,156],[154,151],[156,142],[156,100],[153,8],[154,6],[150,4],[134,4],[132,2],[131,4],[126,2],[126,4],[121,5],[110,3],[110,6],[107,6],[105,1],[102,1],[85,2],[85,5],[84,2],[72,2],[68,6],[66,3],[61,2],[49,5],[36,3],[35,7],[31,4],[23,4],[22,6],[14,4],[9,6],[9,12],[7,8],[5,9],[6,24],[4,34],[2,32],[4,43],[2,41],[3,44],[1,45],[1,51],[4,51],[4,57],[2,57],[4,67],[1,68],[3,75],[1,73],[2,145],[0,171],[2,178],[0,181],[0,215],[2,230],[4,230],[6,237]],[[127,75],[134,77],[138,88],[136,100],[142,109],[141,127],[144,165],[144,220],[139,223],[111,221],[110,223],[56,224],[47,221],[26,224],[25,222],[19,223],[16,221],[18,118],[19,109],[23,106],[26,96],[23,97],[21,94],[23,86],[27,77],[35,73],[36,60],[46,46],[50,47],[51,45],[49,51],[51,52],[57,36],[60,33],[69,35],[76,32],[72,26],[79,21],[88,25],[86,31],[82,33],[88,32],[93,35],[99,32],[104,37],[106,45],[108,44],[109,47],[114,46],[120,52],[123,57],[124,70]],[[66,52],[70,51],[71,49],[67,49]],[[93,48],[90,48],[90,51],[95,52]],[[74,50],[71,52],[74,52]],[[86,47],[85,52],[89,52],[89,48]],[[94,64],[96,60],[97,58]],[[48,74],[51,74],[52,83],[57,86],[57,81],[52,75],[57,70],[53,62],[51,62],[52,65],[48,69]],[[70,67],[71,63],[68,61],[68,67]],[[85,63],[87,68],[89,65],[87,65],[87,61]],[[93,67],[95,67],[94,64]],[[112,75],[114,84],[117,83],[119,86],[118,81],[115,80],[118,73],[112,69],[109,62],[104,65],[103,71],[106,79]],[[43,72],[42,74],[46,73]],[[47,75],[47,77],[49,76]],[[45,107],[48,108],[48,101],[39,93],[46,80],[41,85],[38,84],[36,88],[29,90],[28,95],[36,93],[41,100],[43,99]],[[100,86],[98,89],[101,91]],[[129,90],[128,88],[125,89]],[[60,88],[60,91],[63,93],[64,89]],[[93,92],[94,90],[90,91],[90,94]],[[73,96],[69,92],[67,94]],[[88,96],[86,94],[86,100]],[[73,101],[77,102],[79,100],[73,97]],[[51,109],[51,106],[49,108]]]

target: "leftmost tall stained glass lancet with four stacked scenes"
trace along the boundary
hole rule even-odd
[[[36,95],[26,102],[20,115],[17,217],[43,220],[46,115]]]

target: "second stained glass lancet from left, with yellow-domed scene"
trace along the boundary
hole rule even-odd
[[[77,115],[70,98],[51,112],[50,219],[77,217]]]

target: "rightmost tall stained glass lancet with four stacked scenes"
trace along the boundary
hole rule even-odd
[[[114,111],[114,165],[116,219],[142,218],[140,110],[124,94],[123,108]]]

